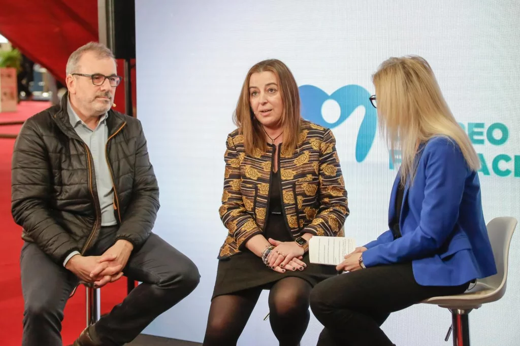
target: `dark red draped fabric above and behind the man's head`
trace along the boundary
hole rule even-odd
[[[64,84],[70,54],[98,41],[97,0],[0,0],[0,34]],[[124,76],[123,60],[118,60],[118,74]],[[135,110],[135,69],[132,89]],[[116,110],[125,111],[124,82],[114,103]]]

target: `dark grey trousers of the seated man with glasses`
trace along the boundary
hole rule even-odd
[[[116,231],[116,227],[102,228],[98,242],[86,255],[105,252],[114,244]],[[77,277],[33,243],[23,245],[20,267],[24,299],[22,346],[61,346],[63,309],[78,284]],[[102,345],[132,341],[155,317],[188,296],[200,279],[189,258],[153,233],[132,252],[123,273],[142,284],[95,324]]]

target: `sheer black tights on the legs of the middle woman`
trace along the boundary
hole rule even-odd
[[[309,324],[312,287],[298,277],[285,277],[269,291],[269,322],[280,346],[297,346]],[[213,298],[203,346],[236,345],[262,288]]]

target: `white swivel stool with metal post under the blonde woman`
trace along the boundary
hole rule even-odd
[[[450,310],[451,327],[445,341],[448,341],[453,330],[453,346],[470,346],[468,314],[473,309],[482,307],[482,304],[497,301],[504,295],[508,278],[509,246],[516,223],[515,218],[499,217],[487,224],[493,256],[497,264],[497,274],[477,280],[474,287],[470,284],[471,288],[461,295],[433,297],[423,301]]]

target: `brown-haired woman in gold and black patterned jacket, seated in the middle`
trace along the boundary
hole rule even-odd
[[[309,322],[310,290],[336,275],[309,263],[313,235],[338,236],[348,215],[332,132],[300,116],[289,68],[271,59],[246,75],[226,141],[220,217],[229,233],[218,269],[204,346],[237,344],[263,289],[282,346]]]

